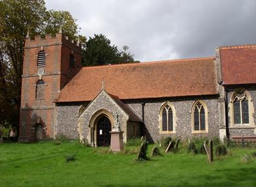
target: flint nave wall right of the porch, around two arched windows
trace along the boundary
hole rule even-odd
[[[208,108],[208,133],[192,134],[191,110],[196,100],[203,100]],[[171,102],[176,111],[176,133],[160,134],[160,108],[165,102]],[[219,110],[217,96],[201,96],[186,98],[158,98],[144,100],[125,100],[133,110],[142,117],[142,102],[144,102],[144,134],[150,142],[156,142],[165,136],[192,138],[193,136],[219,137]],[[143,118],[143,117],[142,117]]]

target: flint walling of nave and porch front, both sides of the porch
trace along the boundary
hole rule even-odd
[[[208,108],[208,133],[192,134],[192,106],[196,100],[203,100]],[[175,107],[177,126],[176,133],[172,135],[160,134],[160,108],[166,101],[171,102]],[[180,138],[192,138],[193,136],[208,136],[213,138],[219,137],[219,111],[218,111],[218,98],[217,96],[201,96],[201,97],[186,97],[186,98],[157,98],[157,99],[144,99],[144,100],[123,100],[127,103],[137,115],[142,117],[142,102],[144,102],[144,127],[142,131],[146,135],[147,140],[156,142],[165,136],[173,136]],[[62,133],[70,138],[78,138],[78,110],[82,103],[73,104],[58,104],[57,111],[57,134]],[[113,115],[119,114],[121,122],[121,129],[131,135],[132,129],[125,129],[123,124],[126,124],[127,118],[123,116],[123,112],[111,102],[108,96],[96,98],[94,103],[91,103],[89,108],[81,115],[83,119],[83,137],[89,138],[89,121],[91,116],[100,109],[105,109]],[[143,118],[143,117],[142,117]],[[79,118],[80,119],[80,118]],[[129,130],[126,131],[126,130]],[[136,131],[138,131],[137,129]],[[127,138],[129,138],[127,136]]]

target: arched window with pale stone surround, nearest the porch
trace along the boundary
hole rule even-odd
[[[170,102],[160,108],[160,133],[175,133],[175,108]]]

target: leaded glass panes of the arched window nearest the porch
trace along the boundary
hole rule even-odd
[[[168,104],[161,112],[161,131],[173,131],[173,110]]]

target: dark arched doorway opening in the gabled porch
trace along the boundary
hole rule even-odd
[[[110,146],[110,131],[111,123],[108,117],[103,116],[98,120],[97,123],[97,146],[106,147]]]

